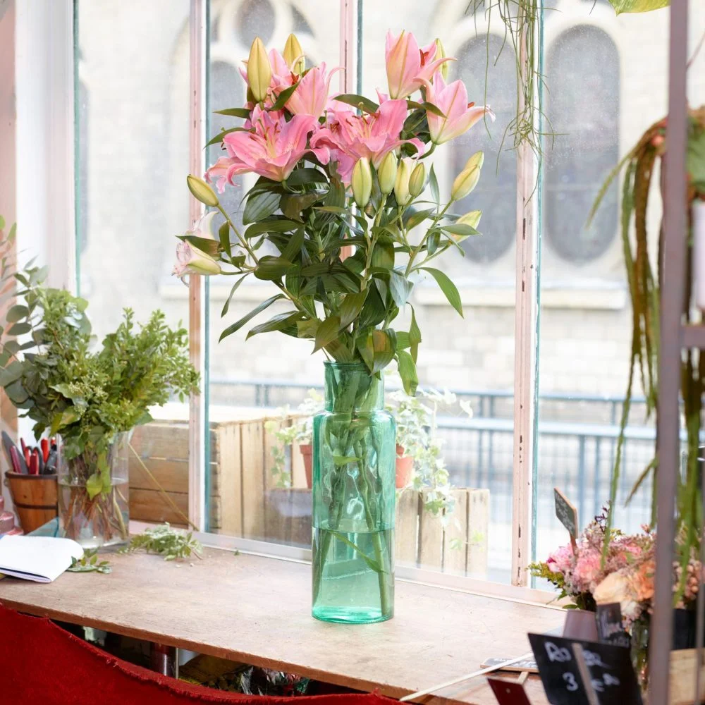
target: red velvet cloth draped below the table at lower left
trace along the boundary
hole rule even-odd
[[[0,605],[0,702],[22,705],[391,705],[376,694],[293,698],[224,693],[126,663],[48,619]]]

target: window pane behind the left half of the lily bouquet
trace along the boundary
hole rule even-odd
[[[208,69],[209,136],[221,128],[242,124],[239,118],[214,114],[245,104],[245,82],[240,76],[255,36],[267,49],[283,51],[295,32],[305,51],[307,65],[325,61],[338,66],[338,3],[327,0],[295,3],[274,0],[212,0],[210,9]],[[331,93],[338,90],[338,76]],[[213,164],[223,154],[209,147]],[[233,222],[242,223],[242,200],[257,177],[235,177],[221,203]],[[216,227],[221,220],[215,219]],[[263,248],[259,251],[267,254]],[[243,317],[276,292],[273,285],[247,278],[221,316],[234,277],[209,280],[209,485],[210,530],[231,536],[278,544],[311,546],[311,491],[307,486],[300,443],[291,445],[281,431],[292,423],[307,390],[323,384],[321,354],[311,355],[308,341],[267,333],[245,341],[249,327],[218,338],[226,326]],[[261,323],[286,310],[273,305]],[[290,405],[292,412],[284,407]],[[312,408],[315,403],[310,405]],[[310,456],[309,456],[310,458]]]

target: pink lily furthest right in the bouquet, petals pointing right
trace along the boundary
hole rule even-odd
[[[442,145],[443,142],[462,135],[485,114],[489,115],[494,122],[494,113],[489,105],[476,106],[474,103],[468,103],[465,83],[458,80],[446,85],[440,71],[436,71],[433,82],[428,85],[426,99],[441,109],[446,116],[441,118],[439,115],[426,112],[431,142],[434,145]]]

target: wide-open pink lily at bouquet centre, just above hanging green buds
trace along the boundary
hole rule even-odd
[[[331,151],[331,161],[338,162],[338,174],[343,183],[350,183],[353,167],[358,159],[365,157],[375,168],[389,152],[405,142],[424,152],[421,140],[400,140],[399,135],[407,116],[405,100],[388,100],[370,115],[355,114],[348,109],[329,112],[329,123],[317,130],[311,137],[312,147],[327,147]]]

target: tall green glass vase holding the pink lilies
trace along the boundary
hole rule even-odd
[[[313,615],[381,622],[394,614],[396,428],[384,381],[326,362],[313,422]]]

